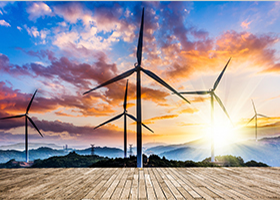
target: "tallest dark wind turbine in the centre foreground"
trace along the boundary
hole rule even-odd
[[[143,46],[143,26],[144,26],[144,8],[142,11],[142,19],[141,19],[141,26],[140,26],[140,33],[139,33],[139,39],[138,39],[138,45],[137,45],[137,62],[134,64],[134,68],[122,73],[121,75],[116,76],[115,78],[112,78],[111,80],[106,81],[105,83],[102,83],[101,85],[85,92],[84,94],[87,94],[93,90],[96,90],[100,87],[109,85],[111,83],[114,83],[116,81],[119,81],[121,79],[124,79],[130,75],[132,75],[134,72],[136,72],[136,108],[137,108],[137,167],[142,168],[143,162],[142,162],[142,113],[141,113],[141,71],[144,72],[146,75],[166,87],[167,89],[171,90],[173,93],[177,94],[179,97],[184,99],[186,102],[190,103],[187,99],[185,99],[181,94],[179,94],[175,89],[173,89],[170,85],[168,85],[164,80],[162,80],[160,77],[158,77],[153,72],[146,70],[142,68],[141,66],[141,60],[142,60],[142,46]]]

